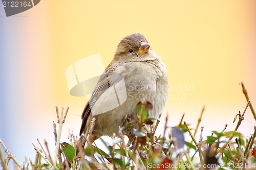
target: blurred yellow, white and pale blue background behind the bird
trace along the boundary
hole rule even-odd
[[[54,149],[56,105],[70,107],[61,142],[69,129],[79,135],[87,98],[69,94],[66,68],[97,53],[108,66],[133,33],[144,34],[167,67],[168,126],[185,113],[195,128],[205,105],[204,139],[225,124],[234,130],[247,104],[241,80],[256,109],[256,1],[41,1],[11,17],[1,5],[0,15],[0,138],[19,162],[34,159],[37,138]],[[255,125],[248,109],[238,131],[250,136]]]

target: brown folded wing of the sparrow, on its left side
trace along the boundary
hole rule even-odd
[[[115,81],[113,81],[115,75],[113,73],[116,71],[116,69],[120,66],[120,63],[114,63],[110,64],[108,67],[106,67],[103,74],[100,76],[93,92],[91,95],[90,100],[87,102],[86,107],[84,107],[82,112],[82,125],[80,129],[80,136],[83,133],[84,129],[86,128],[87,120],[91,114],[91,107],[95,104],[97,99],[99,99],[99,96],[110,86],[112,86]]]

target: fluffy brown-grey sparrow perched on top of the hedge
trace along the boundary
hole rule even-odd
[[[118,82],[123,82],[123,85],[118,86]],[[119,101],[118,107],[114,106],[117,95],[106,92],[108,88],[117,93],[124,91],[118,93],[119,99],[124,101]],[[137,118],[136,105],[143,100],[153,105],[149,117],[157,118],[163,111],[167,95],[167,72],[161,57],[144,35],[136,33],[126,36],[118,43],[113,60],[105,68],[83,109],[80,136],[89,131],[93,117],[96,119],[92,133],[99,136],[118,135],[119,127],[127,116]]]

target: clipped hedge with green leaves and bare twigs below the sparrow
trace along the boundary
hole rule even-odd
[[[126,125],[119,130],[120,135],[113,135],[113,144],[108,144],[108,142],[104,141],[102,138],[98,139],[108,148],[108,153],[106,153],[90,143],[90,141],[93,141],[91,140],[91,132],[86,136],[88,141],[86,147],[83,147],[72,133],[69,134],[70,143],[60,143],[61,128],[63,123],[65,123],[69,108],[67,108],[64,114],[62,108],[61,114],[59,115],[58,108],[56,107],[59,131],[57,132],[56,125],[53,123],[56,145],[54,158],[50,156],[47,142],[45,142],[45,147],[43,147],[38,140],[40,148],[36,147],[33,143],[36,150],[35,161],[32,162],[32,160],[29,159],[27,162],[19,164],[13,155],[6,149],[3,141],[0,140],[2,147],[8,155],[7,158],[4,158],[0,148],[2,167],[4,170],[9,169],[9,160],[13,159],[18,168],[35,170],[256,169],[256,147],[253,145],[255,144],[256,127],[254,127],[254,133],[250,138],[246,138],[241,133],[237,132],[248,107],[250,107],[256,120],[255,112],[249,101],[247,91],[243,83],[241,83],[241,85],[248,103],[244,112],[242,114],[239,112],[239,114],[234,117],[234,122],[238,122],[234,131],[226,132],[226,125],[221,132],[212,131],[211,135],[207,136],[206,140],[202,140],[202,127],[200,130],[200,140],[197,141],[194,136],[197,131],[199,131],[198,127],[204,112],[203,107],[194,134],[191,132],[191,129],[189,129],[188,124],[185,122],[182,124],[184,115],[182,116],[179,125],[176,127],[167,127],[167,115],[164,121],[164,135],[157,137],[155,136],[155,132],[161,120],[161,115],[158,119],[148,117],[148,111],[153,107],[152,104],[149,102],[140,102],[136,106],[138,120],[131,120],[130,118],[129,121],[126,122]],[[95,119],[91,122],[91,130],[93,129],[94,121]],[[155,125],[153,122],[156,122]],[[129,138],[127,144],[125,144],[124,133]],[[190,135],[191,142],[184,141],[184,133]],[[184,145],[186,147],[184,147]],[[80,152],[77,152],[77,148]],[[196,153],[199,155],[199,159],[194,159]],[[189,154],[194,155],[190,156]]]

